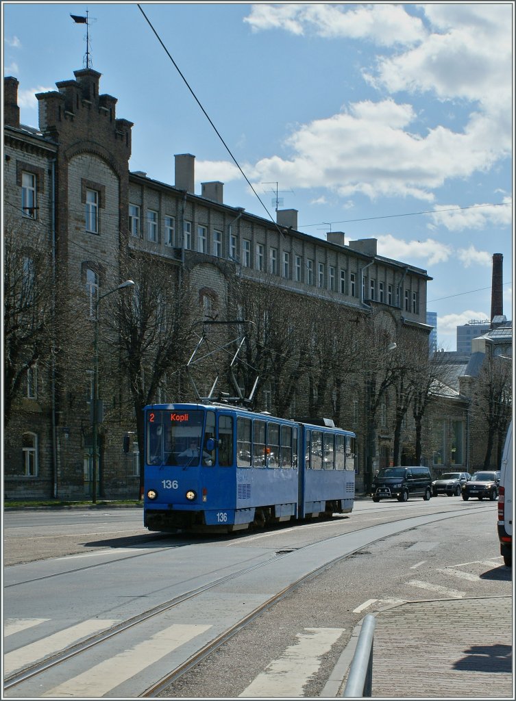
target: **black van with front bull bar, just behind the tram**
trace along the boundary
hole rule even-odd
[[[371,496],[373,501],[395,497],[406,501],[409,496],[422,496],[428,501],[432,496],[432,475],[421,465],[384,468],[373,479]]]

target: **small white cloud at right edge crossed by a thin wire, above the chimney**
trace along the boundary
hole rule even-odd
[[[471,231],[485,229],[489,225],[508,226],[512,222],[512,199],[504,197],[503,201],[506,204],[478,204],[468,209],[460,209],[458,205],[439,205],[435,214],[430,215],[432,223],[428,228],[444,226],[448,231]]]

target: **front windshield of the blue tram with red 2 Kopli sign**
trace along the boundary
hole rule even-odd
[[[149,465],[199,465],[204,411],[156,409],[147,411],[147,463]],[[203,464],[211,465],[203,451]]]

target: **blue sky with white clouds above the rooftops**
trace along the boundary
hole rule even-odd
[[[134,123],[130,170],[174,155],[253,215],[376,238],[423,268],[437,343],[488,320],[494,253],[512,319],[514,4],[2,2],[4,76],[35,93],[86,67]],[[159,38],[158,38],[159,37]],[[161,42],[160,42],[161,40]],[[244,175],[242,175],[242,172]],[[249,182],[248,182],[249,181]],[[249,186],[251,183],[252,187]]]

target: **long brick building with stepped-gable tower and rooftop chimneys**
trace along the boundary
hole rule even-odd
[[[173,285],[187,284],[192,319],[230,318],[234,290],[245,283],[256,294],[272,290],[274,297],[291,300],[293,322],[303,315],[297,309],[327,303],[335,319],[343,313],[348,320],[334,335],[352,336],[353,329],[374,317],[385,343],[403,334],[428,339],[426,289],[431,278],[425,270],[379,256],[375,239],[345,243],[341,232],[328,233],[326,240],[308,236],[297,230],[296,210],[280,210],[271,222],[227,205],[221,182],[203,183],[196,194],[191,154],[175,156],[174,184],[130,172],[133,124],[117,118],[115,97],[100,94],[98,72],[82,69],[74,76],[56,83],[57,90],[37,95],[37,129],[20,124],[18,81],[4,80],[6,212],[14,222],[10,226],[19,227],[25,241],[36,230],[44,239],[55,312],[52,352],[44,362],[26,359],[25,379],[6,424],[7,496],[91,494],[95,324],[100,327],[104,399],[100,494],[138,494],[138,447],[134,444],[129,454],[121,449],[124,434],[135,430],[136,416],[123,363],[112,350],[120,331],[110,324],[107,302],[98,306],[126,279],[128,260],[152,259],[165,266],[160,269]],[[105,362],[108,348],[111,364]],[[165,375],[153,400],[171,400],[171,393],[178,391],[187,396],[184,383],[175,377]],[[286,410],[289,415],[305,415],[306,397],[315,396],[303,381]],[[273,384],[270,380],[260,386],[258,408],[275,409]],[[338,416],[346,421],[345,428],[357,431],[360,484],[368,457],[367,407],[363,380],[355,377],[352,387],[355,395],[346,395]],[[335,414],[335,392],[330,388],[320,407],[325,415]],[[392,457],[388,417],[393,411],[394,404],[388,403],[373,442],[369,440],[375,467]],[[410,433],[405,427],[406,442]]]

